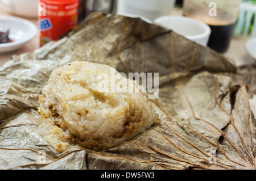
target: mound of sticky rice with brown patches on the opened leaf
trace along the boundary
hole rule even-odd
[[[113,68],[108,65],[86,61],[53,70],[39,98],[39,113],[40,132],[57,150],[64,151],[74,143],[105,150],[130,140],[158,121],[137,82],[122,77],[115,69],[113,80],[110,70]],[[101,79],[98,75],[102,73],[106,76]],[[127,89],[131,85],[135,88],[133,92],[102,91],[102,81],[109,87],[123,81]]]

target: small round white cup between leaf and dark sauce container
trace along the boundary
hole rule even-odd
[[[161,16],[154,20],[155,24],[173,30],[176,33],[206,46],[210,37],[210,27],[192,18],[185,16]]]

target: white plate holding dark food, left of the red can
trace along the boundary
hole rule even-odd
[[[0,17],[0,31],[9,30],[9,37],[13,42],[0,44],[0,53],[7,53],[21,48],[25,43],[33,39],[38,33],[34,23],[13,16]]]

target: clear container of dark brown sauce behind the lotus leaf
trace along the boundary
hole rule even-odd
[[[229,48],[241,0],[184,0],[183,13],[207,23],[212,30],[208,46],[219,53]]]

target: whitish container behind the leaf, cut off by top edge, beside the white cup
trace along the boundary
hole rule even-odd
[[[134,14],[154,19],[170,15],[176,0],[118,0],[117,14]]]

